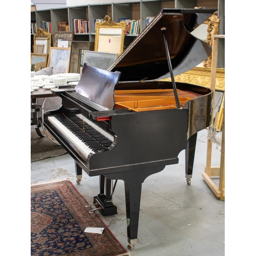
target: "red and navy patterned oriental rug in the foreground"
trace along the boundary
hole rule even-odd
[[[31,255],[129,256],[68,181],[31,186]],[[84,232],[103,227],[102,234]]]

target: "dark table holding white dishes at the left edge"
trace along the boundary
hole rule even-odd
[[[44,137],[44,135],[40,132],[40,127],[42,126],[42,117],[38,117],[38,112],[42,113],[42,105],[44,105],[44,101],[42,105],[37,104],[38,98],[48,98],[48,97],[58,97],[57,94],[53,94],[50,89],[39,88],[31,92],[31,113],[33,117],[31,118],[31,126],[34,127],[36,133],[40,137]]]

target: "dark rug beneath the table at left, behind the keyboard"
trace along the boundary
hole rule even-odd
[[[44,130],[40,129],[41,133],[45,135]],[[53,141],[46,135],[39,137],[34,129],[31,129],[31,162],[39,161],[49,157],[61,156],[67,151]]]

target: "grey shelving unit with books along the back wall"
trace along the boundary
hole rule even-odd
[[[93,1],[92,1],[93,3]],[[57,29],[57,22],[66,20],[69,23],[69,30],[74,31],[73,19],[83,18],[89,20],[90,31],[84,34],[74,34],[75,41],[95,41],[94,19],[104,18],[109,15],[114,22],[119,18],[140,19],[140,32],[146,28],[146,17],[156,16],[163,8],[195,8],[203,6],[206,8],[218,8],[218,16],[221,19],[219,34],[224,34],[225,0],[139,0],[134,2],[106,2],[100,4],[88,4],[69,6],[65,8],[54,8],[47,10],[31,11],[31,20],[36,20],[37,27],[42,21],[52,22],[52,32]],[[129,46],[137,35],[125,35],[124,48]],[[32,35],[31,35],[32,38]],[[52,36],[53,38],[53,36]],[[33,40],[31,40],[32,42]],[[219,40],[218,46],[218,68],[224,68],[224,47],[225,43]]]

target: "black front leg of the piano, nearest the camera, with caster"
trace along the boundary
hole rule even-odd
[[[129,242],[127,247],[129,250],[133,250],[137,243],[142,183],[148,176],[161,172],[164,167],[165,165],[160,165],[105,175],[108,179],[124,181],[127,240]]]

